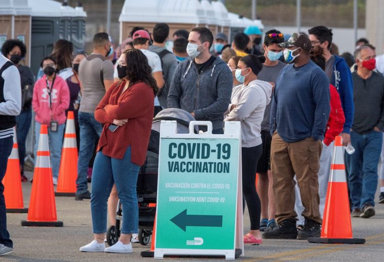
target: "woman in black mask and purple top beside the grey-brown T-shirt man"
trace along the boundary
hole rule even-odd
[[[77,52],[73,57],[72,70],[65,71],[59,74],[59,76],[67,82],[69,88],[70,101],[68,110],[66,111],[66,115],[68,115],[68,111],[73,111],[75,120],[77,149],[79,149],[80,147],[80,127],[78,113],[81,99],[81,83],[79,80],[79,64],[81,60],[86,58],[87,56],[88,54],[84,51]]]

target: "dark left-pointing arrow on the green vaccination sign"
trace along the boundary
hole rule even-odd
[[[186,227],[222,227],[222,215],[187,215],[185,209],[180,214],[170,219],[176,226],[186,231]]]

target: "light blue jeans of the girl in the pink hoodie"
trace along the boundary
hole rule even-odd
[[[39,144],[40,137],[40,127],[39,122],[35,123],[35,165],[36,165],[36,152]],[[52,166],[52,177],[58,178],[59,168],[60,168],[60,158],[61,158],[61,147],[62,139],[64,136],[64,129],[66,124],[57,125],[57,132],[51,132],[50,127],[48,126],[48,140],[49,140],[49,150],[51,155],[51,166]]]

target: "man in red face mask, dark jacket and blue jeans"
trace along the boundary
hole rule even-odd
[[[355,115],[351,143],[355,148],[346,157],[353,217],[375,215],[377,165],[384,129],[384,77],[373,71],[375,53],[369,46],[355,51],[357,70],[353,72]]]

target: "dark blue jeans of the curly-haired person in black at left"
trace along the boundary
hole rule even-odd
[[[20,115],[16,116],[16,137],[18,145],[18,159],[20,166],[24,167],[25,160],[25,141],[31,127],[32,110],[22,111]]]

